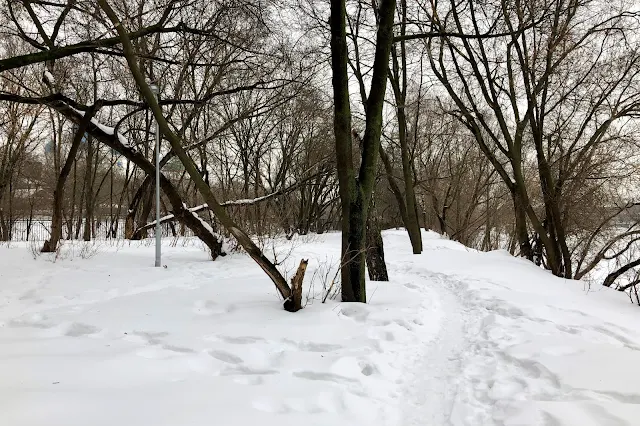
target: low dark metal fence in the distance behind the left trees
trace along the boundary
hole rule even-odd
[[[115,224],[114,224],[115,225]],[[173,225],[173,227],[172,227]],[[112,229],[115,228],[115,235]],[[105,239],[124,239],[124,220],[118,221],[117,226],[113,226],[111,219],[101,219],[94,221],[94,233],[92,239],[105,240]],[[175,235],[191,237],[193,232],[190,229],[182,229],[179,224],[171,224],[169,222],[162,223],[160,225],[163,237],[172,237]],[[80,229],[77,232],[77,229]],[[72,235],[69,236],[69,228],[66,223],[62,224],[62,238],[63,239],[75,239],[76,234],[78,238],[82,239],[82,231],[84,229],[84,222],[78,227],[77,223],[74,224]],[[51,219],[15,219],[11,221],[10,241],[45,241],[51,234]],[[147,232],[148,237],[155,237],[155,228],[149,229]]]

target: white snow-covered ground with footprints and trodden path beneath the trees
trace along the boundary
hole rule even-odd
[[[624,294],[433,233],[418,256],[384,236],[391,282],[369,283],[367,305],[319,300],[339,234],[299,239],[296,314],[249,258],[198,244],[167,241],[166,268],[140,243],[55,261],[0,247],[0,424],[639,424]]]

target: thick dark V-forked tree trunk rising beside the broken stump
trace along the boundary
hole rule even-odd
[[[366,128],[362,143],[362,162],[355,178],[349,105],[348,48],[346,39],[346,5],[331,1],[331,69],[334,100],[334,133],[338,182],[342,207],[342,300],[366,302],[365,258],[366,222],[373,193],[376,161],[382,133],[382,107],[387,85],[389,55],[393,42],[395,0],[382,0],[378,10],[378,32],[371,77],[371,91],[366,106]]]

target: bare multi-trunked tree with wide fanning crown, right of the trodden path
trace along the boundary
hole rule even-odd
[[[476,36],[427,44],[432,70],[456,105],[451,113],[512,194],[521,254],[534,257],[531,224],[545,265],[572,277],[563,194],[594,150],[628,129],[624,120],[640,106],[639,56],[625,36],[637,26],[636,13],[575,0],[443,7],[428,12],[435,31]],[[480,37],[488,31],[509,35]],[[527,183],[534,179],[525,169],[532,155],[540,206]]]

